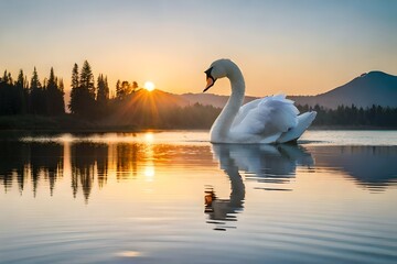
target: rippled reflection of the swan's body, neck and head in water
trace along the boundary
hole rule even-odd
[[[285,184],[294,177],[297,166],[311,167],[314,162],[310,153],[298,145],[242,145],[214,144],[214,157],[219,162],[221,169],[230,180],[230,196],[221,199],[212,186],[205,190],[205,212],[208,223],[215,230],[225,231],[230,221],[237,221],[236,213],[243,211],[245,200],[245,179],[264,184]],[[265,190],[290,190],[282,187],[261,187]],[[228,222],[228,223],[226,223]]]

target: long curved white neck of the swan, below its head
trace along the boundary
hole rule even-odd
[[[242,72],[236,67],[226,77],[230,80],[232,95],[211,128],[212,142],[223,142],[227,139],[233,121],[244,100],[245,82]]]

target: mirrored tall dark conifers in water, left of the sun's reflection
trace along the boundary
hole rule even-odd
[[[115,170],[116,177],[129,179],[137,177],[138,163],[146,158],[143,144],[76,144],[0,141],[0,183],[4,191],[17,182],[22,194],[28,180],[35,196],[41,182],[50,186],[51,195],[56,180],[71,169],[73,196],[83,193],[88,201],[93,184],[97,180],[103,188],[108,173]],[[66,172],[64,172],[66,166]]]

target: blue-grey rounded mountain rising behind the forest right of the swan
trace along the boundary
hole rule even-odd
[[[291,96],[289,98],[297,105],[313,107],[318,103],[332,109],[341,105],[355,105],[363,108],[376,105],[397,108],[397,76],[383,72],[369,72],[318,96]]]

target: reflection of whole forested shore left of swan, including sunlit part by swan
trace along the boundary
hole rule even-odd
[[[195,146],[151,142],[56,144],[0,141],[0,185],[6,191],[18,183],[21,193],[26,184],[31,184],[34,195],[41,186],[50,186],[53,194],[56,180],[65,174],[66,180],[71,177],[73,197],[82,194],[86,201],[94,184],[103,188],[109,174],[117,180],[137,178],[139,172],[144,177],[153,177],[155,164],[172,166],[176,161],[195,166],[202,165],[204,158]]]

